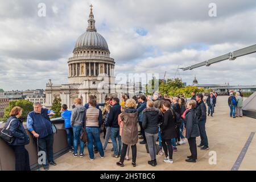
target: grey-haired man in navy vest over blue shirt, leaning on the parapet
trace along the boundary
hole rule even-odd
[[[27,129],[38,139],[39,151],[46,152],[46,160],[43,161],[45,170],[49,169],[49,164],[56,166],[53,160],[53,131],[52,122],[49,118],[54,115],[53,110],[43,108],[40,102],[34,103],[34,111],[27,116]]]

